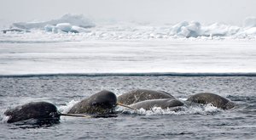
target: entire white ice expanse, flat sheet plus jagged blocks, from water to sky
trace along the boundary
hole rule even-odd
[[[106,24],[72,14],[15,23],[0,33],[0,75],[256,73],[255,25],[253,17],[241,27]]]

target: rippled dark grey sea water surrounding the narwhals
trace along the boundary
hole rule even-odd
[[[170,92],[184,100],[199,92],[229,98],[238,106],[205,105],[181,112],[126,111],[113,118],[61,116],[60,123],[6,123],[3,112],[31,101],[48,101],[67,111],[75,101],[103,89],[117,95],[133,89]],[[122,108],[119,108],[122,110]],[[0,139],[254,139],[256,76],[26,76],[0,77]]]

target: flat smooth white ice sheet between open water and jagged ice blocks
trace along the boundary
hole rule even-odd
[[[0,74],[255,73],[255,44],[189,40],[2,42]]]

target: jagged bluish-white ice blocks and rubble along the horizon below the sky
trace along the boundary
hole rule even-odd
[[[207,38],[253,39],[256,38],[256,18],[249,17],[242,26],[224,23],[203,24],[199,21],[182,21],[177,24],[154,25],[115,22],[95,23],[83,15],[65,14],[60,19],[43,22],[18,22],[2,32],[19,31],[42,34],[80,33],[84,39],[148,39],[148,38]],[[54,36],[54,35],[53,35]]]

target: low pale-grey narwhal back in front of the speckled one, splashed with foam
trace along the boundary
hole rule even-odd
[[[183,102],[173,99],[173,98],[163,98],[163,99],[150,99],[142,102],[138,102],[136,104],[131,104],[132,108],[136,109],[152,109],[154,107],[160,107],[161,109],[167,109],[177,106],[183,106]]]

